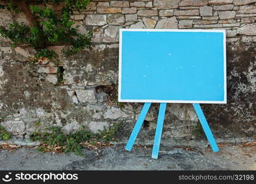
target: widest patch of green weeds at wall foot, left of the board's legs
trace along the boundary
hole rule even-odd
[[[34,132],[31,134],[32,141],[39,141],[41,145],[37,147],[38,151],[42,152],[57,152],[57,153],[70,153],[74,152],[76,155],[83,155],[83,146],[98,145],[99,142],[109,145],[111,140],[116,140],[114,137],[120,123],[109,128],[109,131],[104,129],[99,134],[92,134],[88,132],[83,126],[80,131],[72,134],[65,134],[60,127],[52,126],[45,129],[44,132]]]

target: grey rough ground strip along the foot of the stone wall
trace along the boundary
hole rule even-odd
[[[0,150],[0,170],[256,170],[256,147],[222,145],[218,153],[210,148],[160,148],[158,159],[151,159],[151,147],[122,145],[103,150],[84,150],[85,156],[40,153],[31,147],[9,153]]]

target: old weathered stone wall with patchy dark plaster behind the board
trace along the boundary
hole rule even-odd
[[[58,10],[58,7],[55,7]],[[215,137],[255,137],[256,134],[256,0],[142,0],[91,1],[72,18],[80,33],[93,31],[93,44],[65,58],[60,66],[47,59],[33,65],[30,48],[11,48],[0,38],[1,125],[18,137],[44,127],[66,132],[81,125],[92,132],[122,122],[120,137],[127,139],[142,104],[118,103],[118,29],[226,29],[228,104],[204,104]],[[0,10],[0,25],[12,21]],[[18,21],[27,23],[20,13]],[[59,77],[64,82],[55,86]],[[153,140],[158,104],[151,107],[141,134]],[[195,139],[198,119],[191,104],[168,104],[164,138]]]

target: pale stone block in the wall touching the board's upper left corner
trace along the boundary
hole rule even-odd
[[[108,26],[105,30],[103,42],[118,42],[119,29],[121,26]]]

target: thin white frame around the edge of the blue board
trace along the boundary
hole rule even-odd
[[[123,31],[142,32],[206,32],[223,33],[223,69],[224,69],[224,99],[223,101],[177,101],[158,99],[121,99],[122,85],[122,35]],[[227,63],[226,63],[226,30],[225,29],[119,29],[119,66],[118,66],[118,102],[150,102],[150,103],[188,103],[188,104],[227,104]]]

